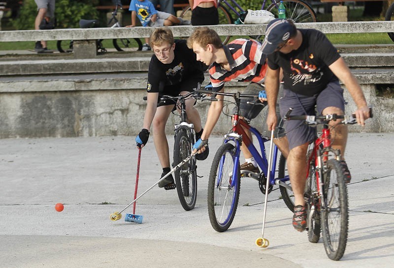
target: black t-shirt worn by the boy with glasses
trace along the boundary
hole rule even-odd
[[[175,40],[174,54],[174,60],[169,64],[162,63],[155,54],[152,55],[147,92],[177,96],[181,91],[189,91],[188,88],[182,88],[182,85],[204,80],[203,72],[208,66],[197,61],[196,54],[187,47],[186,40]]]

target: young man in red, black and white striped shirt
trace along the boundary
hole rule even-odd
[[[227,81],[250,81],[251,83],[246,87],[244,94],[257,96],[259,92],[264,90],[262,84],[267,66],[265,62],[266,57],[261,53],[259,42],[249,39],[236,39],[228,45],[223,45],[215,30],[208,27],[198,27],[189,37],[188,47],[192,48],[194,53],[196,53],[197,60],[209,66],[209,77],[213,91],[223,92],[224,84]],[[224,97],[217,95],[216,98],[219,101],[211,103],[204,131],[194,146],[200,152],[205,150],[204,145],[208,143],[208,137],[215,127],[223,108]],[[260,98],[260,100],[266,101],[266,98]],[[255,118],[264,107],[262,105],[247,104],[248,101],[253,101],[253,99],[242,98],[240,106],[241,116],[246,122]],[[248,130],[245,130],[245,132],[252,138]],[[274,142],[282,154],[287,157],[288,142],[284,135],[283,129],[277,128],[274,134]],[[260,173],[257,162],[244,144],[242,144],[241,150],[245,157],[245,163],[241,165],[241,172],[244,171],[243,173],[246,174]]]

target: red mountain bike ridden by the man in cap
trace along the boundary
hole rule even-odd
[[[305,202],[307,205],[308,240],[317,243],[320,232],[328,258],[342,258],[348,237],[348,195],[342,170],[341,152],[331,147],[328,122],[343,119],[339,124],[356,124],[353,115],[285,116],[286,120],[305,120],[310,126],[323,125],[322,133],[308,148]],[[370,109],[372,117],[372,110]]]

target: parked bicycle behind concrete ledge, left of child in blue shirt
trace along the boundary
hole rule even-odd
[[[118,14],[118,8],[122,8],[122,3],[120,0],[114,0],[115,10],[111,13],[112,17],[108,22],[108,27],[116,28],[122,27],[120,22],[118,21],[116,15]],[[91,28],[94,27],[98,23],[98,20],[80,20],[79,27],[81,28]],[[104,48],[103,39],[96,40],[97,50],[99,52],[106,52],[107,50]],[[56,43],[56,46],[59,52],[72,52],[73,51],[73,40],[59,40]],[[112,39],[112,44],[117,51],[137,51],[142,50],[142,42],[139,38],[119,38]]]

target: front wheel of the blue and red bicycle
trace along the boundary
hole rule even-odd
[[[235,164],[238,165],[238,174],[234,175],[232,171]],[[219,172],[222,178],[218,176]],[[229,175],[228,179],[223,178],[226,174]],[[229,229],[234,219],[238,206],[240,177],[239,161],[235,163],[234,145],[222,144],[213,159],[208,181],[209,221],[217,232]],[[231,187],[230,183],[233,180],[235,186]]]

